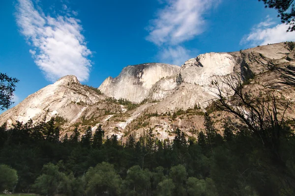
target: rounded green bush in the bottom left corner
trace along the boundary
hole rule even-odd
[[[7,165],[0,165],[0,176],[0,192],[12,191],[18,180],[16,170]]]

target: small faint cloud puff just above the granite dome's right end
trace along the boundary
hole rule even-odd
[[[159,54],[159,59],[161,62],[180,66],[190,58],[190,53],[190,50],[181,46],[168,47],[161,51]]]

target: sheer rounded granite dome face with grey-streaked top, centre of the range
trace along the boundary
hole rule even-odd
[[[146,63],[125,67],[118,77],[108,77],[98,88],[106,96],[141,102],[161,78],[177,74],[180,67],[162,63]]]

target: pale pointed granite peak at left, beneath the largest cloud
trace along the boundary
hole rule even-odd
[[[104,96],[97,95],[81,85],[76,76],[66,75],[1,114],[0,124],[6,121],[26,123],[29,119],[50,120],[55,116],[72,121],[80,118],[81,111],[87,105],[92,105],[103,98]]]

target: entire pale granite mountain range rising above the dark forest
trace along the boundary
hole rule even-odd
[[[201,54],[181,67],[159,63],[128,66],[118,77],[108,77],[100,85],[104,95],[81,85],[75,76],[65,76],[1,114],[0,124],[61,116],[67,119],[63,125],[66,130],[73,125],[82,130],[90,125],[95,130],[101,123],[106,135],[116,134],[118,138],[131,132],[139,136],[149,128],[159,139],[172,139],[176,128],[192,136],[203,128],[202,115],[215,98],[211,81],[223,75],[240,74],[245,88],[271,90],[280,98],[295,101],[294,53],[287,44],[278,43],[239,52]],[[125,103],[110,97],[148,101],[128,110]],[[172,118],[173,113],[177,113],[176,118]],[[212,115],[218,121],[225,118],[224,114]],[[288,115],[294,118],[294,110]]]

